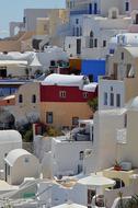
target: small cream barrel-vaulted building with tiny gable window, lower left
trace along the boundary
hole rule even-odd
[[[12,185],[21,184],[25,177],[39,177],[38,160],[24,149],[14,149],[8,153],[5,162],[5,181]]]

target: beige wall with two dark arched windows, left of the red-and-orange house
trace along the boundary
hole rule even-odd
[[[12,114],[16,122],[35,122],[39,117],[39,82],[31,82],[19,88]]]

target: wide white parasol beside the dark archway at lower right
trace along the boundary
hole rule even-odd
[[[102,175],[96,175],[96,174],[92,174],[88,177],[83,177],[81,180],[78,181],[79,184],[82,185],[87,185],[87,186],[92,186],[93,188],[96,187],[112,187],[115,185],[115,181],[114,180],[110,180],[107,177],[104,177]]]

